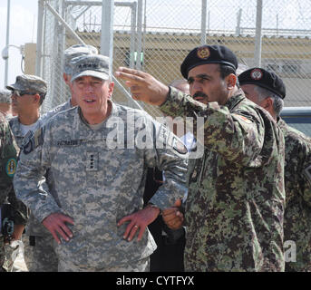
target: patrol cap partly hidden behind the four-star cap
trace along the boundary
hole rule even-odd
[[[83,45],[83,44],[74,44],[73,46],[68,47],[64,51],[64,65],[63,72],[66,74],[72,74],[72,67],[70,62],[74,57],[78,57],[86,54],[98,54],[98,50],[95,46],[92,45]]]

